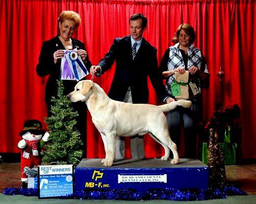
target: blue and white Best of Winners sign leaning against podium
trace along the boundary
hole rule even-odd
[[[56,198],[73,194],[73,165],[40,165],[38,198]]]

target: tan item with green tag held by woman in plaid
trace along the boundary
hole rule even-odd
[[[175,72],[174,80],[171,83],[171,92],[176,100],[186,100],[189,98],[189,72],[185,71],[184,74]]]

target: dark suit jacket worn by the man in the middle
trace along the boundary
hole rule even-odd
[[[147,76],[163,101],[168,97],[168,93],[162,83],[162,78],[158,70],[156,48],[150,45],[144,38],[142,44],[132,59],[131,36],[114,39],[110,50],[99,62],[104,73],[116,62],[114,79],[109,91],[109,97],[123,101],[128,87],[131,87],[133,103],[148,102]]]

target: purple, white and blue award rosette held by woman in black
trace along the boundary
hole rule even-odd
[[[61,58],[60,79],[79,81],[89,74],[82,58],[77,54],[77,48],[63,51],[65,54]]]

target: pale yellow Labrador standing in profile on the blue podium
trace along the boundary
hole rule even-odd
[[[68,97],[72,102],[86,102],[92,122],[104,142],[106,158],[101,161],[104,166],[112,166],[114,162],[116,136],[142,136],[147,133],[164,147],[165,155],[162,160],[169,159],[171,149],[171,164],[179,162],[177,147],[170,138],[163,112],[173,110],[177,106],[189,108],[191,101],[179,100],[161,106],[114,101],[91,80],[78,82]]]

